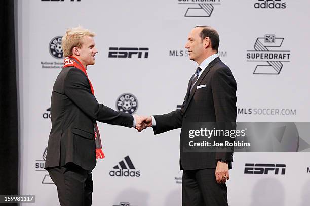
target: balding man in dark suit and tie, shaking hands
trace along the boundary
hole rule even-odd
[[[190,77],[181,110],[146,119],[155,134],[182,130],[195,122],[236,122],[236,81],[230,69],[217,56],[219,35],[210,26],[197,26],[188,35],[185,48],[199,67]],[[181,130],[181,134],[182,134]],[[231,168],[231,152],[186,152],[185,136],[180,136],[182,204],[185,206],[224,206],[226,180]],[[187,136],[188,138],[188,136]],[[231,151],[231,150],[230,150]]]

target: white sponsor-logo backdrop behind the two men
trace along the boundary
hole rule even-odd
[[[218,56],[237,81],[238,122],[310,122],[309,1],[17,2],[20,194],[35,195],[33,205],[59,205],[44,164],[67,28],[81,25],[97,34],[99,53],[87,72],[98,101],[114,110],[179,109],[198,66],[184,48],[188,33],[210,25],[220,35]],[[181,205],[179,129],[155,136],[150,128],[98,126],[106,158],[93,170],[93,205]],[[308,205],[309,134],[292,138],[299,152],[235,153],[230,205]]]

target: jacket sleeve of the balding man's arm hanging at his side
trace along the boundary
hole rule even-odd
[[[221,125],[220,129],[236,129],[234,123],[237,116],[237,83],[230,69],[227,67],[217,69],[212,77],[211,84],[216,122]],[[234,141],[230,137],[220,139],[222,142],[226,140],[229,142]],[[232,152],[230,151],[230,149],[218,149],[216,159],[232,161]]]

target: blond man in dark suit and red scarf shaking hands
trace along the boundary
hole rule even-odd
[[[99,104],[87,75],[98,50],[95,34],[82,27],[68,29],[62,38],[64,66],[52,92],[51,120],[45,169],[57,186],[60,204],[91,205],[91,171],[104,158],[97,121],[140,128],[137,115]]]

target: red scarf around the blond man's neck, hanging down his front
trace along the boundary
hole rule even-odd
[[[82,63],[77,58],[72,57],[72,56],[66,57],[64,59],[64,66],[63,67],[75,67],[75,68],[78,68],[79,70],[81,70],[86,75],[86,77],[88,79],[89,85],[91,87],[92,94],[95,95],[93,85],[88,78],[88,75],[86,73],[86,69],[84,68]],[[100,133],[99,133],[99,129],[98,129],[96,121],[94,122],[94,135],[95,135],[95,144],[96,144],[96,158],[97,159],[98,158],[104,158],[104,153],[102,152]]]

